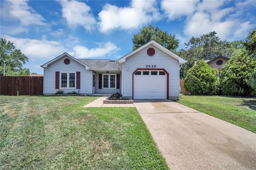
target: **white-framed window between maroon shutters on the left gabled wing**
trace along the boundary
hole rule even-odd
[[[76,88],[76,72],[60,72],[60,88]]]

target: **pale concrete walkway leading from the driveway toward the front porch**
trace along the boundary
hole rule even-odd
[[[134,104],[103,104],[107,96],[99,97],[98,99],[88,103],[84,107],[135,107]]]

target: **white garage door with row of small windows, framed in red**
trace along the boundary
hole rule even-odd
[[[133,81],[134,99],[166,99],[167,75],[164,71],[136,71]]]

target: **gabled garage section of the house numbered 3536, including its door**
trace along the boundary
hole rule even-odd
[[[186,60],[154,40],[116,62],[122,70],[123,97],[177,100],[180,96],[180,67]]]

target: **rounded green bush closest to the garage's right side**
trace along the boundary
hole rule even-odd
[[[184,79],[184,87],[196,95],[214,95],[218,89],[217,69],[212,69],[204,60],[191,67]]]

